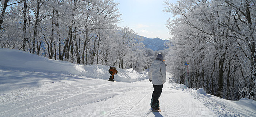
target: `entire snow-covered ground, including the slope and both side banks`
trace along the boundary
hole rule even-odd
[[[151,112],[147,72],[76,65],[0,48],[0,117],[256,117],[256,101],[228,101],[176,84],[168,74]]]

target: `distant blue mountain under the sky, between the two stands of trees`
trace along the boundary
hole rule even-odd
[[[147,37],[143,37],[143,36],[139,36],[142,39],[144,39],[144,41],[142,41],[142,43],[146,46],[146,48],[150,48],[153,51],[159,51],[159,50],[163,50],[166,49],[167,47],[164,45],[165,42],[167,42],[168,40],[162,40],[160,38],[147,38]]]

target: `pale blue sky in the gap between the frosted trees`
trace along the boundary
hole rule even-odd
[[[123,22],[120,27],[130,27],[138,35],[147,38],[169,39],[169,30],[166,28],[166,20],[172,14],[163,12],[166,5],[165,0],[115,0],[120,3],[117,7]],[[177,0],[169,0],[169,3],[176,3]]]

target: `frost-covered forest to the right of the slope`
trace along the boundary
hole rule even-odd
[[[256,100],[256,0],[165,4],[173,14],[166,62],[177,83],[224,99]]]

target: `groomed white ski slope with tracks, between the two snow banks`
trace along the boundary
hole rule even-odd
[[[148,80],[124,83],[55,73],[0,72],[1,79],[19,74],[24,78],[12,85],[28,86],[1,93],[1,117],[215,117],[191,94],[169,83],[159,98],[159,113],[150,110],[153,86]]]

